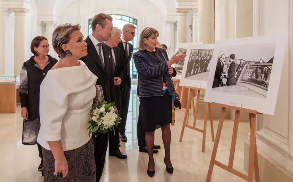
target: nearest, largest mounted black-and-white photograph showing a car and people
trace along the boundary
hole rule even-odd
[[[287,35],[216,41],[205,102],[274,115]]]

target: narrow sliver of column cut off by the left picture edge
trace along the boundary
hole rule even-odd
[[[5,18],[6,18],[7,9],[1,9],[1,26],[0,26],[0,74],[5,73]]]

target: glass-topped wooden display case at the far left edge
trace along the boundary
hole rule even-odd
[[[0,74],[0,113],[16,113],[19,85],[20,75]]]

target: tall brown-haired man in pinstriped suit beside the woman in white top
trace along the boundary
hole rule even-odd
[[[88,44],[88,55],[80,59],[98,77],[96,85],[102,86],[104,99],[108,103],[116,103],[111,49],[107,44],[103,43],[113,34],[112,17],[105,13],[99,13],[93,17],[91,26],[93,33],[85,39]],[[100,181],[103,173],[108,139],[108,133],[98,133],[97,137],[93,137],[97,168],[96,181]]]

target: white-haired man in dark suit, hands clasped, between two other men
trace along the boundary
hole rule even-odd
[[[122,79],[126,75],[126,69],[125,65],[123,63],[123,58],[122,58],[122,52],[121,49],[118,46],[119,42],[121,42],[121,34],[122,31],[117,28],[113,27],[113,34],[112,37],[108,40],[105,41],[105,43],[111,47],[111,52],[112,52],[112,69],[114,71],[114,84],[115,84],[115,90],[116,90],[116,106],[117,109],[120,109],[121,105],[121,91],[120,91],[120,84],[122,82]],[[123,154],[119,150],[119,125],[114,126],[115,134],[114,132],[109,133],[109,155],[110,156],[116,156],[119,159],[126,159],[127,155]]]

